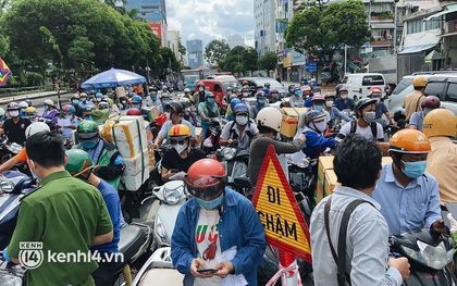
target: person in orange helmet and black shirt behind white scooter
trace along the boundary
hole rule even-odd
[[[176,124],[170,129],[169,139],[173,148],[163,154],[161,173],[163,183],[180,172],[187,172],[194,162],[206,158],[203,151],[190,147],[190,137],[192,132],[187,125]],[[178,179],[183,177],[184,175]]]

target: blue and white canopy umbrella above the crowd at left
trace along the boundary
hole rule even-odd
[[[133,85],[138,83],[146,83],[146,78],[139,74],[118,70],[111,67],[111,70],[96,74],[82,84],[83,88],[103,88],[103,87],[116,87]]]

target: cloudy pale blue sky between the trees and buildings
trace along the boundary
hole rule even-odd
[[[238,34],[254,47],[252,0],[168,0],[168,29],[178,30],[181,41],[201,39],[205,47],[213,39]]]

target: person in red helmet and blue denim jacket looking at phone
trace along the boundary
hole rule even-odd
[[[232,274],[257,285],[267,241],[252,203],[225,187],[225,169],[217,160],[195,162],[184,183],[193,198],[181,208],[171,239],[183,285],[221,285]]]

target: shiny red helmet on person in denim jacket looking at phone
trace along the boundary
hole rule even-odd
[[[213,159],[200,159],[187,171],[187,191],[202,200],[218,198],[225,188],[225,167]]]

